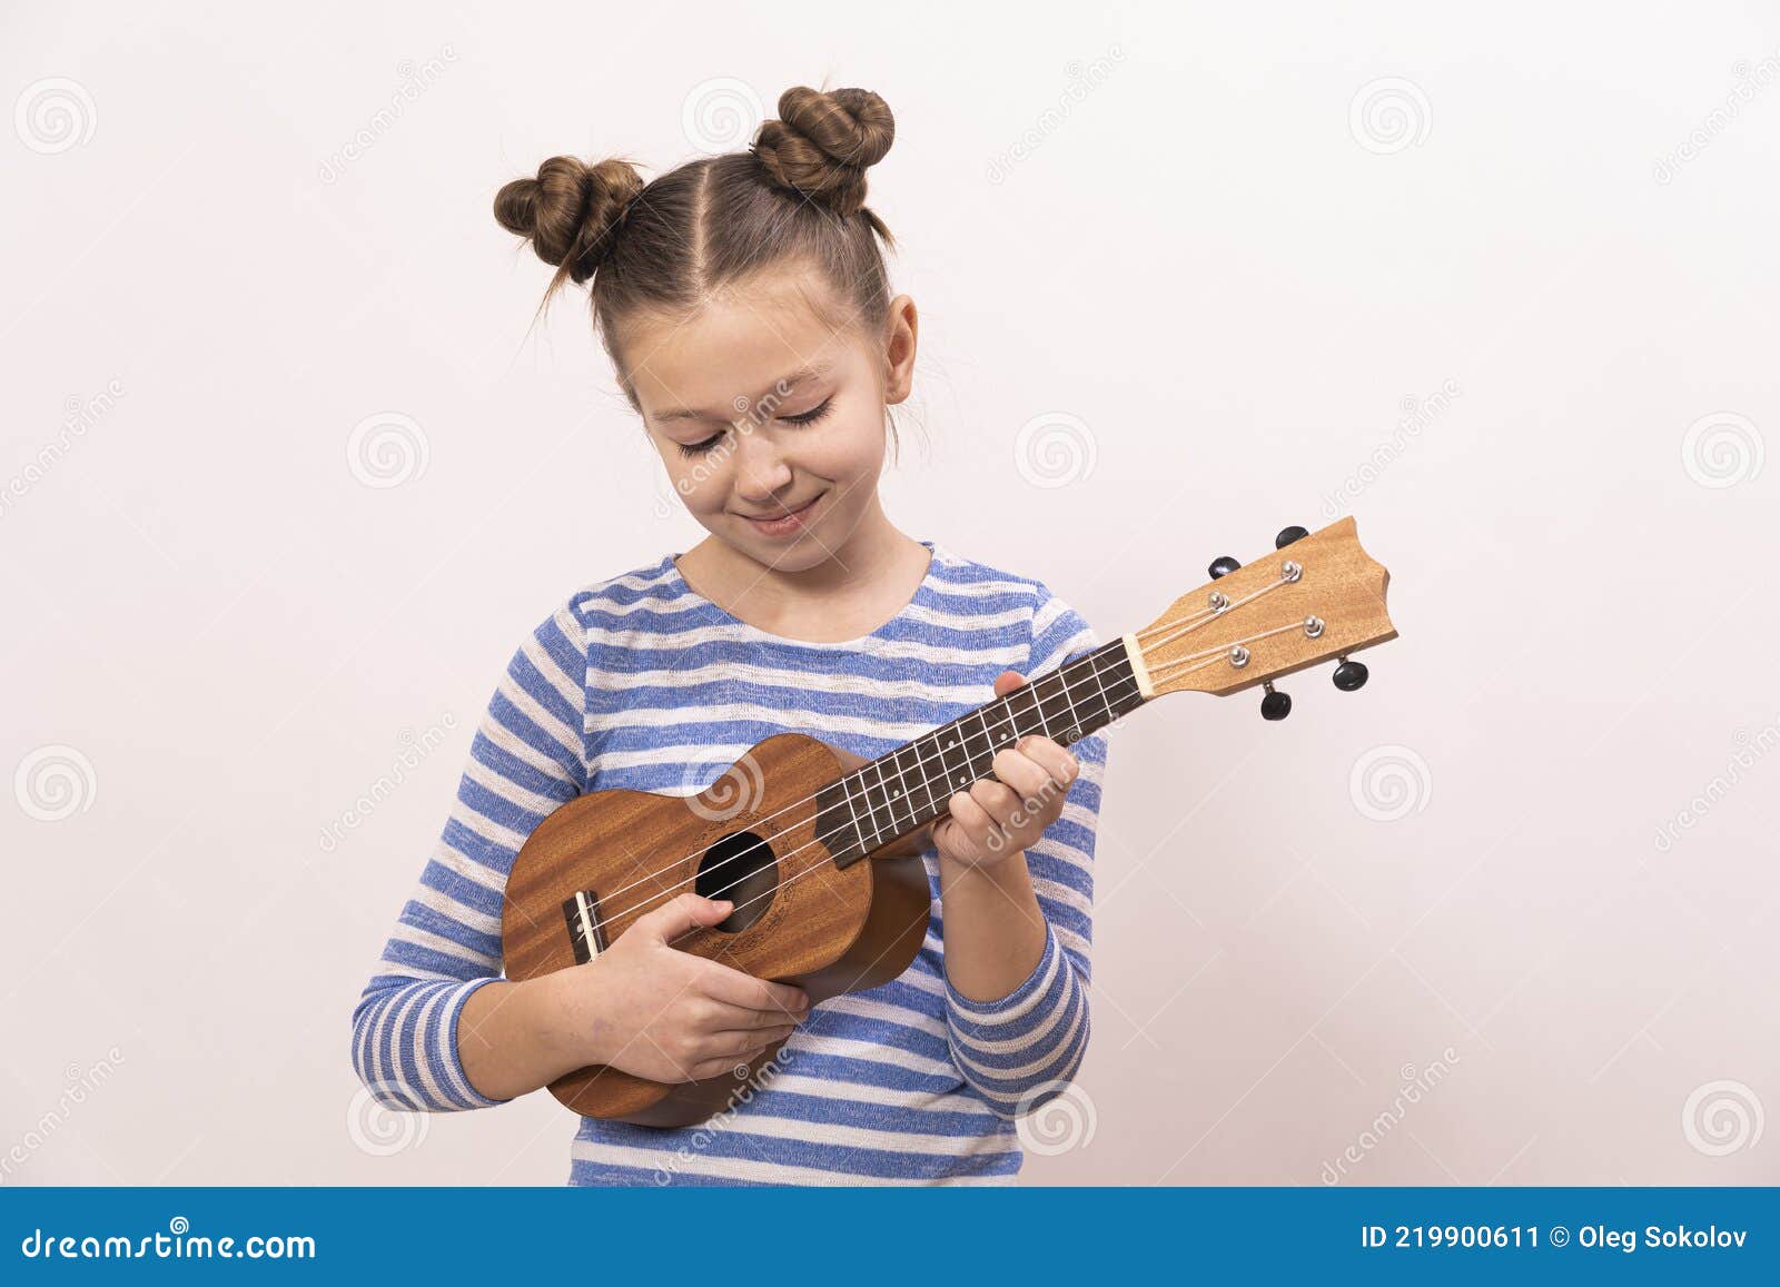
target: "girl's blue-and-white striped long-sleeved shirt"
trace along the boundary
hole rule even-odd
[[[513,858],[564,801],[612,787],[691,796],[783,732],[876,758],[990,701],[1002,671],[1036,678],[1100,643],[1043,582],[922,545],[933,557],[913,600],[846,643],[739,621],[664,555],[577,591],[520,644],[352,1015],[352,1063],[379,1104],[504,1102],[465,1077],[457,1016],[500,977]],[[1105,739],[1070,749],[1080,774],[1063,815],[1025,851],[1047,920],[1025,981],[997,1000],[951,986],[927,846],[933,919],[901,977],[817,1002],[771,1079],[714,1121],[580,1118],[570,1184],[1011,1184],[1020,1120],[1066,1091],[1088,1048]]]

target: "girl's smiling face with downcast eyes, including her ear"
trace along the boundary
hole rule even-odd
[[[819,313],[847,308],[808,272],[625,333],[643,424],[680,500],[712,536],[780,571],[838,557],[876,511],[885,406],[908,397],[915,360],[906,295],[876,344]]]

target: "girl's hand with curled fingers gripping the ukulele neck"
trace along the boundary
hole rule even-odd
[[[995,696],[1004,698],[1025,684],[1018,671],[1002,671]],[[1048,737],[1022,737],[995,753],[993,781],[974,781],[956,792],[951,813],[933,824],[933,846],[942,858],[965,867],[993,867],[1022,853],[1063,813],[1063,799],[1080,773],[1080,764]]]

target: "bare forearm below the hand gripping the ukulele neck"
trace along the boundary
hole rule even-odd
[[[942,854],[940,904],[945,977],[970,1000],[1006,997],[1038,967],[1045,913],[1024,853],[991,867],[968,867]]]

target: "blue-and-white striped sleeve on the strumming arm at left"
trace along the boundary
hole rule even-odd
[[[520,846],[587,789],[587,634],[573,602],[513,653],[457,799],[352,1011],[352,1066],[390,1109],[449,1113],[481,1095],[457,1056],[470,995],[500,977],[500,906]]]

